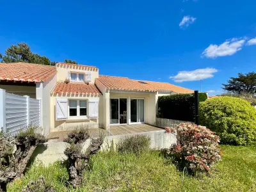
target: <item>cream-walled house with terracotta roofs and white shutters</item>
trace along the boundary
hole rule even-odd
[[[119,124],[155,125],[159,96],[193,93],[170,83],[100,76],[97,67],[70,63],[56,67],[0,63],[0,79],[0,88],[6,92],[19,95],[19,86],[24,86],[20,95],[33,92],[36,99],[42,99],[45,134],[81,124],[104,129]]]

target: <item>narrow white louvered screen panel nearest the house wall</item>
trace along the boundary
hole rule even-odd
[[[40,126],[40,100],[29,99],[29,124]]]

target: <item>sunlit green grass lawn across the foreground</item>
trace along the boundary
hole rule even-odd
[[[256,191],[256,148],[221,146],[220,163],[211,177],[200,179],[178,172],[159,152],[134,154],[99,153],[90,159],[81,189],[65,187],[67,170],[60,163],[48,168],[31,166],[22,180],[15,180],[8,191],[20,191],[29,180],[44,175],[56,191]]]

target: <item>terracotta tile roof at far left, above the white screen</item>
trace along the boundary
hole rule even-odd
[[[56,67],[34,63],[0,63],[0,80],[44,82],[56,74]]]

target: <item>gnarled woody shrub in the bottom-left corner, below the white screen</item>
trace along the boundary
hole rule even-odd
[[[29,125],[22,129],[15,141],[10,142],[10,138],[4,136],[3,131],[0,136],[0,190],[6,191],[8,182],[16,179],[24,173],[28,161],[36,148],[36,145],[45,143],[47,140],[42,134],[36,133],[37,127]],[[14,148],[16,146],[16,150]]]

